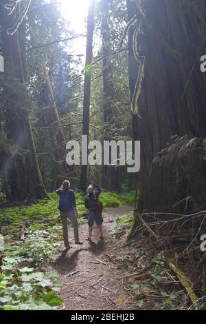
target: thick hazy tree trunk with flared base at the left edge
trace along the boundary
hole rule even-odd
[[[25,88],[23,62],[24,37],[19,37],[20,30],[13,36],[8,34],[8,28],[14,26],[16,17],[8,16],[4,10],[3,1],[0,8],[0,23],[2,33],[2,50],[5,59],[5,83],[3,85],[5,100],[5,127],[8,139],[12,144],[12,154],[7,154],[3,161],[1,174],[5,192],[9,201],[25,201],[43,199],[47,196],[38,167],[36,148],[32,135],[28,107],[32,105]],[[21,4],[16,8],[20,12]],[[21,25],[21,32],[25,26]]]

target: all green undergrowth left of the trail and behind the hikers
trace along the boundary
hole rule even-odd
[[[0,309],[54,310],[62,304],[58,297],[60,283],[56,272],[45,272],[45,267],[56,256],[58,241],[62,240],[58,196],[38,201],[26,207],[10,207],[0,212],[4,225],[5,250],[0,272]],[[133,193],[102,192],[104,207],[133,203]],[[87,212],[84,196],[76,194],[78,213]],[[18,241],[19,224],[28,221],[25,241]],[[84,222],[80,217],[78,223]],[[12,225],[11,225],[12,224]],[[1,256],[1,254],[0,254]]]

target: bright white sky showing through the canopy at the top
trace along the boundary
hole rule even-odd
[[[87,12],[90,0],[60,0],[62,17],[70,21],[71,29],[75,34],[87,32]],[[80,38],[73,41],[73,53],[84,54],[86,39]]]

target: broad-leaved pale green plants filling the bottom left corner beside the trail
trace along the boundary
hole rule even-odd
[[[54,310],[62,305],[56,272],[43,266],[54,259],[57,243],[45,231],[29,231],[24,242],[5,244],[0,274],[3,310]]]

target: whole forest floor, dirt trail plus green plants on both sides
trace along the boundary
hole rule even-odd
[[[164,259],[162,247],[144,236],[130,237],[134,216],[133,193],[103,192],[104,241],[82,215],[84,196],[76,195],[79,232],[83,245],[62,245],[58,197],[31,206],[0,212],[5,250],[1,255],[0,309],[4,310],[188,310],[187,293]],[[19,230],[25,227],[25,240]],[[21,226],[20,226],[21,225]],[[51,271],[52,270],[52,271]],[[55,271],[54,271],[55,270]],[[38,291],[38,294],[36,294]],[[60,297],[60,298],[59,298]]]

